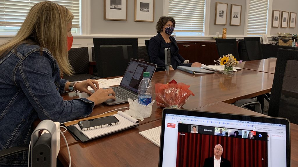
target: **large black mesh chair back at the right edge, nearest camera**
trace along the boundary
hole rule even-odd
[[[269,103],[269,116],[298,124],[298,51],[278,49]]]

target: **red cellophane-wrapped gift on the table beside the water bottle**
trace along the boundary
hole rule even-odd
[[[156,83],[155,94],[157,106],[181,108],[190,95],[195,95],[188,89],[189,87],[190,85],[177,83],[175,80],[172,80],[168,84]]]

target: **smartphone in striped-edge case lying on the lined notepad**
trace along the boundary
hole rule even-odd
[[[105,117],[96,118],[96,119],[80,121],[78,124],[81,130],[91,130],[91,129],[97,129],[100,127],[117,125],[119,124],[119,120],[115,116],[111,115],[111,116],[105,116]]]

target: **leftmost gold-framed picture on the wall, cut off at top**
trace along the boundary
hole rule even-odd
[[[104,20],[127,21],[128,0],[104,0]]]

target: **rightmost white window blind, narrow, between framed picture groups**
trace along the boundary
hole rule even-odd
[[[267,34],[268,0],[249,0],[247,34]]]

